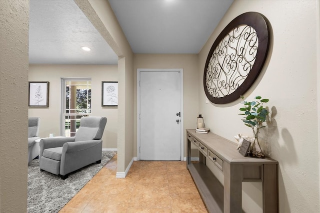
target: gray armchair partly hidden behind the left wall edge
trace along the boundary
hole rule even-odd
[[[40,139],[39,135],[39,123],[40,118],[30,117],[28,118],[28,163],[39,155],[39,143],[36,143],[36,139]]]

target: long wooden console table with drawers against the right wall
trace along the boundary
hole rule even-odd
[[[278,213],[278,162],[243,157],[236,144],[215,135],[187,129],[186,167],[209,213],[242,213],[242,182],[262,182],[263,213]],[[191,143],[199,150],[199,163],[191,163]],[[222,171],[224,187],[207,168],[206,160]]]

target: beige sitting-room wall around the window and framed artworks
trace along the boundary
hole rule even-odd
[[[117,107],[101,106],[101,81],[117,81],[117,65],[29,65],[29,81],[49,81],[49,107],[29,107],[29,117],[40,117],[40,137],[60,135],[61,78],[91,78],[91,115],[107,118],[102,148],[116,148]]]

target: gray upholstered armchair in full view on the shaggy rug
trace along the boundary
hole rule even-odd
[[[40,171],[68,174],[92,163],[101,163],[102,134],[105,117],[82,117],[74,137],[55,137],[40,140]]]

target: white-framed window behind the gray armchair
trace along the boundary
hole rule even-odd
[[[91,79],[62,79],[61,135],[72,137],[80,125],[80,118],[91,113]]]

